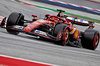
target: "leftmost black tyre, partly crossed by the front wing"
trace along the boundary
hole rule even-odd
[[[19,34],[19,31],[17,30],[13,30],[13,29],[9,29],[9,26],[13,26],[13,25],[23,25],[24,22],[22,22],[21,20],[24,20],[24,15],[21,13],[17,13],[17,12],[13,12],[9,15],[8,20],[7,20],[7,32],[11,33],[11,34]]]

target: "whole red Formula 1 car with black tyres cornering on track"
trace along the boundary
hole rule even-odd
[[[83,48],[95,50],[99,44],[99,32],[93,30],[93,22],[83,21],[63,15],[63,10],[58,10],[56,15],[46,14],[44,19],[25,20],[22,13],[13,12],[8,19],[1,19],[1,27],[6,27],[8,33],[19,34],[20,32],[48,38],[62,45],[82,45]],[[26,25],[25,23],[29,23]],[[84,32],[79,31],[73,24],[89,26]]]

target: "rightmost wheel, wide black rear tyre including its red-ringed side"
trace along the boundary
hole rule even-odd
[[[93,29],[87,29],[82,36],[83,48],[95,50],[99,44],[99,32]]]

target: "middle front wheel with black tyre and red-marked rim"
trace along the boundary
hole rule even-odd
[[[66,24],[56,25],[54,28],[54,36],[61,39],[59,43],[61,43],[62,45],[65,46],[66,44],[68,44],[68,40],[69,40],[68,25]]]

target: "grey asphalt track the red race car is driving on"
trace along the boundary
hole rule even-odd
[[[10,0],[1,0],[0,15],[8,16],[11,12],[23,12],[27,19],[32,19],[31,14],[37,14],[38,16],[43,16],[47,13],[56,14],[52,11],[31,7]],[[100,31],[100,25],[95,24],[95,26],[95,29]],[[76,27],[80,30],[87,28]],[[0,28],[0,54],[60,66],[100,65],[100,45],[95,51],[71,46],[60,46],[51,41],[40,40],[22,33],[12,35],[7,33],[3,28]]]

